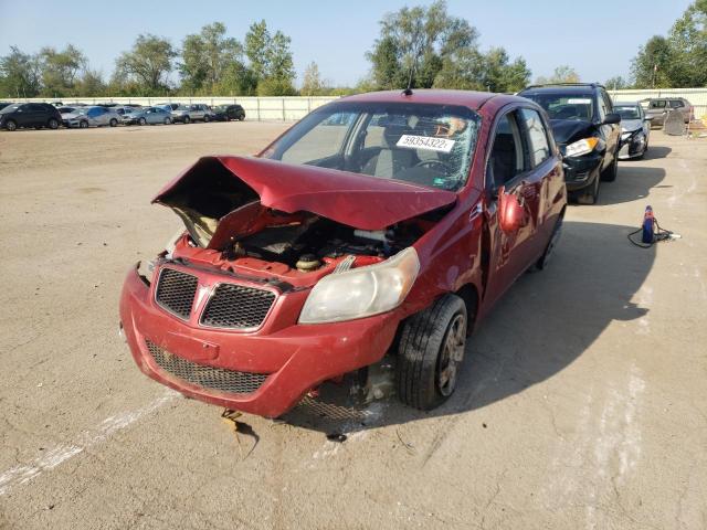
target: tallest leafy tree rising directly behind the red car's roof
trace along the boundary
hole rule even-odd
[[[429,8],[402,8],[380,21],[380,38],[366,56],[378,88],[413,86],[429,88],[443,70],[443,78],[454,73],[454,55],[475,49],[478,32],[460,18],[450,17],[446,3],[437,0]]]

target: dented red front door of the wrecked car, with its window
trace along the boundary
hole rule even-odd
[[[532,116],[528,118],[532,119]],[[497,118],[494,132],[489,136],[486,163],[488,199],[484,212],[489,227],[490,246],[488,280],[484,292],[486,304],[498,299],[537,257],[534,235],[538,230],[544,171],[549,173],[552,163],[532,167],[526,127],[521,107],[511,106]],[[525,224],[515,232],[504,232],[500,229],[500,193],[516,195],[526,211]]]

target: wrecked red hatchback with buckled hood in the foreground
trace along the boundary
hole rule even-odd
[[[340,114],[355,119],[324,125]],[[567,189],[531,100],[384,92],[317,108],[257,158],[201,158],[154,202],[186,231],[125,280],[135,361],[186,395],[277,417],[386,353],[404,403],[444,402],[472,328],[547,267]]]

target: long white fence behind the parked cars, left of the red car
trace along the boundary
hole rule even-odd
[[[245,119],[255,120],[285,120],[292,121],[303,118],[310,110],[326,105],[338,97],[64,97],[60,98],[64,105],[72,103],[135,103],[139,105],[158,105],[160,103],[205,103],[215,106],[238,103],[245,109]],[[15,99],[17,102],[51,103],[57,98],[29,98]]]

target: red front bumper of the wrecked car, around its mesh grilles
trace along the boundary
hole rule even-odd
[[[218,274],[198,275],[200,288],[207,290],[224,280]],[[346,322],[298,325],[308,290],[295,289],[277,297],[255,331],[214,329],[200,326],[198,317],[189,322],[176,318],[155,303],[154,292],[155,284],[146,285],[131,269],[120,297],[120,325],[140,370],[190,398],[266,417],[281,416],[326,380],[380,361],[400,321],[392,311]],[[196,306],[203,308],[204,304],[197,301]],[[196,307],[194,314],[199,310]],[[150,352],[156,346],[199,370],[215,368],[266,378],[257,390],[244,394],[192,384],[160,368]]]

